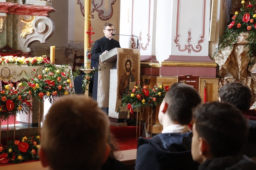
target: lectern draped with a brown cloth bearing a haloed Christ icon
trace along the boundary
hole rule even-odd
[[[117,112],[125,90],[134,88],[140,81],[140,51],[131,48],[114,48],[100,56],[97,103],[100,108],[108,108],[112,126],[126,126],[127,111]]]

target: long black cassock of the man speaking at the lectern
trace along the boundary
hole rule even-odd
[[[107,37],[102,37],[95,41],[92,51],[91,51],[91,59],[94,60],[94,68],[99,67],[99,55],[102,54],[105,50],[109,51],[114,48],[121,48],[118,41],[115,39],[108,39]],[[95,62],[96,61],[96,62]],[[95,72],[94,81],[93,81],[93,90],[92,90],[92,98],[97,101],[97,91],[98,90],[98,71]]]

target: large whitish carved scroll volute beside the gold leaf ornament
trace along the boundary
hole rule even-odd
[[[21,39],[23,46],[22,49],[25,52],[33,52],[34,49],[30,45],[35,41],[40,41],[40,43],[47,43],[48,39],[53,35],[55,26],[53,21],[45,16],[35,16],[33,22],[34,31],[31,34],[27,34],[26,39]]]

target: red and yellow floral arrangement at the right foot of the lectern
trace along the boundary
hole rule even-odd
[[[153,106],[156,107],[157,104],[161,104],[165,94],[169,90],[169,86],[162,87],[154,86],[151,89],[148,89],[147,86],[143,86],[141,88],[140,81],[137,81],[139,84],[138,86],[135,86],[132,91],[125,91],[125,93],[122,96],[122,104],[118,106],[117,112],[121,110],[124,106],[133,113],[133,110],[140,107],[146,107],[146,106]]]

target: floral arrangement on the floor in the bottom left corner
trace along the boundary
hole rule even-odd
[[[38,160],[40,136],[25,136],[19,140],[9,140],[8,146],[0,144],[0,164],[21,163],[28,160]]]

